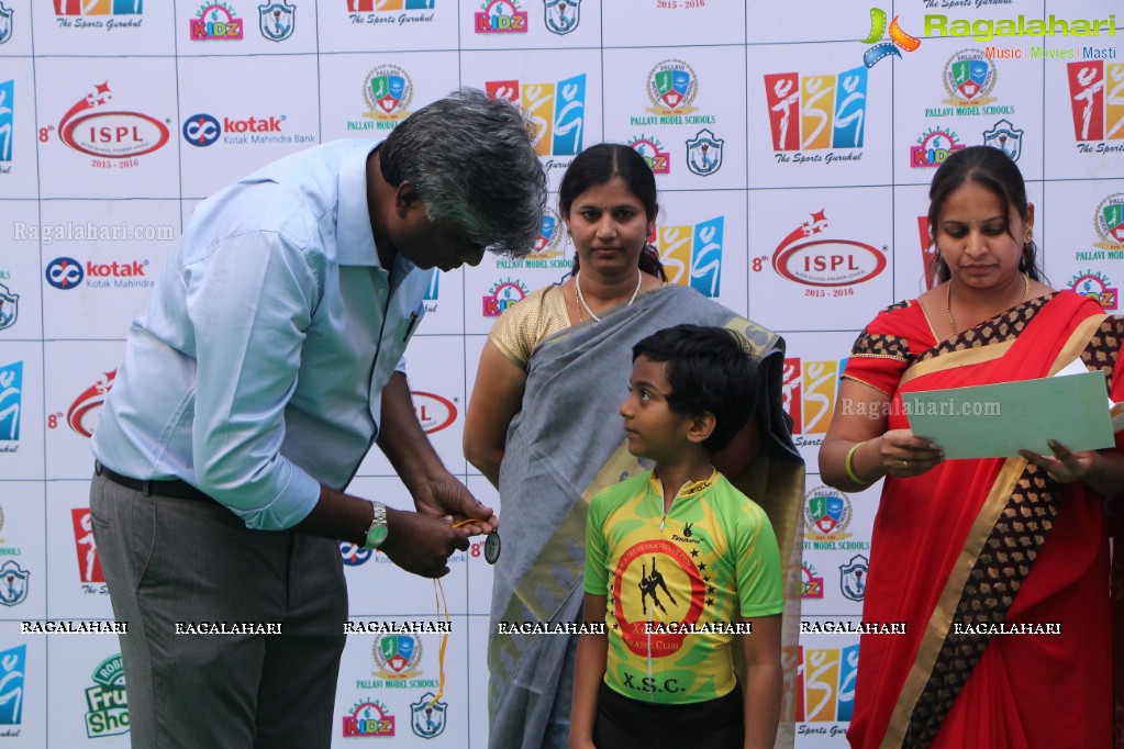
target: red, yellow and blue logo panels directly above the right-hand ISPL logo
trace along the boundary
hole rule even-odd
[[[862,148],[867,122],[865,67],[837,75],[772,73],[764,81],[773,150]],[[780,162],[790,158],[778,154]]]

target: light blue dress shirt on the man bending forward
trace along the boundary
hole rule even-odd
[[[370,140],[278,161],[196,208],[92,439],[139,479],[182,478],[248,528],[300,522],[378,433],[430,280],[379,264]],[[393,278],[393,285],[391,285]]]

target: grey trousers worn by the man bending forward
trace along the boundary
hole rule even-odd
[[[330,746],[347,620],[336,541],[252,531],[217,504],[145,496],[98,475],[90,510],[114,616],[128,622],[119,637],[133,747]],[[200,622],[279,623],[282,633],[176,633]]]

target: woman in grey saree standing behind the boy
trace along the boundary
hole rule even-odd
[[[586,189],[589,179],[568,192],[571,173],[578,167],[588,176],[591,162],[604,167],[592,184],[615,186],[616,192]],[[560,193],[581,273],[505,312],[518,321],[501,321],[493,329],[465,423],[465,455],[498,481],[502,513],[504,555],[493,573],[488,647],[489,747],[568,745],[577,634],[500,632],[499,624],[543,622],[553,630],[581,621],[589,500],[641,469],[625,447],[617,415],[632,369],[632,346],[683,322],[728,327],[762,360],[765,376],[758,402],[763,405],[715,463],[764,508],[780,544],[788,583],[783,655],[790,667],[782,712],[788,720],[782,720],[779,736],[791,746],[804,465],[781,405],[783,340],[694,290],[661,286],[649,274],[637,277],[637,256],[655,218],[655,186],[651,170],[631,148],[601,145],[584,152],[568,171]],[[622,205],[642,212],[638,226],[627,228],[635,221]],[[583,228],[583,221],[591,225],[601,213],[619,214],[617,229]],[[628,252],[619,253],[620,259],[600,249],[602,245],[627,246]],[[617,301],[609,307],[597,291],[616,280]],[[587,302],[593,302],[592,309]],[[505,342],[513,329],[525,349]],[[500,446],[495,446],[497,440]]]

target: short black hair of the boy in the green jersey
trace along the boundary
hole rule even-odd
[[[633,346],[633,362],[640,356],[667,365],[672,411],[714,414],[714,431],[703,441],[707,453],[729,445],[753,415],[758,360],[734,331],[694,325],[664,328]]]

